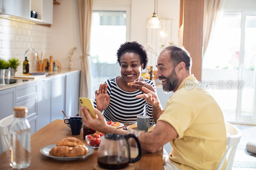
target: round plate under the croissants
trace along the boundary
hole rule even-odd
[[[85,155],[74,156],[74,157],[60,157],[60,156],[49,155],[49,152],[54,147],[56,147],[56,144],[44,146],[43,148],[40,149],[40,152],[45,156],[48,156],[48,157],[51,157],[51,158],[57,159],[57,160],[76,160],[76,159],[86,158],[87,156],[91,155],[94,152],[94,149],[92,148],[92,146],[86,145],[86,147],[88,148],[88,152]]]

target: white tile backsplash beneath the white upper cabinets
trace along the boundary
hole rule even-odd
[[[50,28],[0,18],[0,57],[5,60],[18,58],[18,73],[22,73],[22,63],[28,48],[34,48],[39,55],[43,51],[46,58],[49,58]],[[34,53],[30,51],[27,55],[30,62],[29,71],[36,71],[37,61]]]

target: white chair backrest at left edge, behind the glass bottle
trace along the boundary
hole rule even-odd
[[[7,116],[4,119],[0,120],[0,136],[1,142],[3,146],[3,151],[6,151],[10,148],[10,135],[8,131],[8,127],[12,124],[13,115]]]

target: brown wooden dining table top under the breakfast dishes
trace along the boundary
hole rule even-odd
[[[94,149],[94,153],[84,159],[72,161],[55,160],[41,154],[41,148],[46,145],[56,144],[56,142],[65,137],[76,137],[86,143],[83,138],[83,132],[81,131],[80,135],[72,135],[71,129],[64,123],[64,120],[55,120],[33,133],[31,135],[31,163],[27,169],[94,169],[93,166],[97,163],[98,149]],[[162,170],[163,147],[161,147],[155,153],[143,152],[141,159],[135,163],[132,163],[132,165],[138,170]],[[9,162],[9,150],[0,155],[0,169],[12,169]]]

